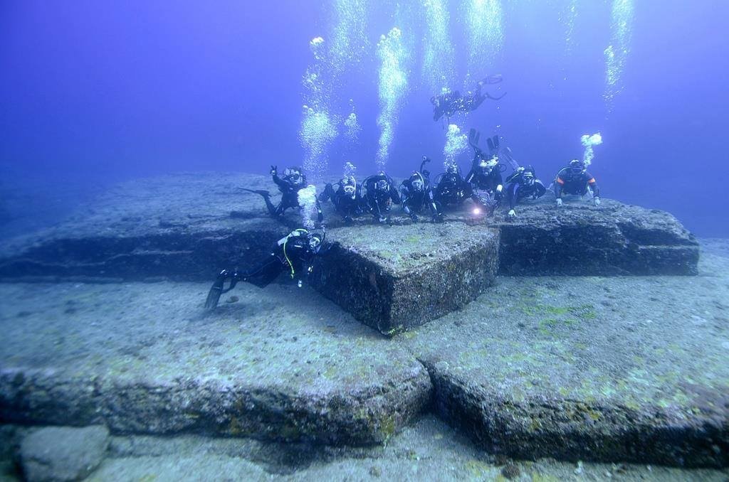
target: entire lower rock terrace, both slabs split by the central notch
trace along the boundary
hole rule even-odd
[[[0,283],[0,424],[356,446],[432,411],[494,457],[728,467],[707,245],[696,277],[497,277],[393,338],[291,285],[206,313],[208,283]]]

